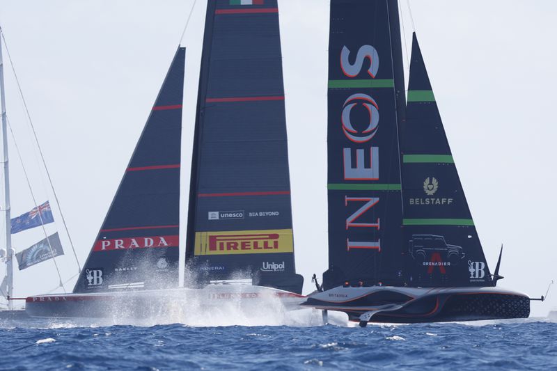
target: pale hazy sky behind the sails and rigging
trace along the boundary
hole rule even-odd
[[[0,24],[81,264],[111,203],[178,46],[194,0],[0,1]],[[182,226],[205,4],[197,0],[186,53]],[[411,47],[412,25],[402,0]],[[557,280],[557,1],[411,0],[414,24],[448,140],[487,260],[505,252],[501,287],[531,297]],[[297,271],[327,269],[327,42],[329,1],[279,0]],[[404,50],[403,50],[404,52]],[[54,197],[38,175],[28,125],[6,62],[8,117],[38,202]],[[405,61],[405,67],[407,63]],[[407,71],[406,71],[407,72]],[[12,214],[33,207],[10,147]],[[313,152],[317,163],[303,161]],[[54,210],[57,221],[58,210]],[[56,261],[77,273],[68,239]],[[185,230],[182,228],[182,230]],[[54,232],[56,226],[48,226]],[[185,237],[185,233],[182,233]],[[18,251],[40,230],[13,237]],[[182,239],[182,245],[185,241]],[[76,278],[66,285],[72,290]],[[19,272],[15,295],[58,284],[52,262]],[[533,315],[557,307],[557,287]]]

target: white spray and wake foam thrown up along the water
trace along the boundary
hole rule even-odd
[[[322,326],[322,313],[303,308],[304,297],[252,285],[213,285],[203,290],[180,289],[127,293],[118,301],[91,304],[87,313],[102,318],[32,318],[15,326],[34,328],[72,328],[114,325],[156,326]],[[330,312],[329,324],[347,326],[345,313]],[[14,324],[6,324],[14,326]],[[0,324],[1,326],[1,324]],[[5,326],[3,326],[5,327]]]

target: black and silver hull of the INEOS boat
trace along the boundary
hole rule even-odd
[[[367,322],[460,322],[530,315],[526,295],[496,287],[336,287],[310,295],[302,306],[344,312],[362,326]]]

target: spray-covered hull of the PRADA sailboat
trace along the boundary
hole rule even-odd
[[[279,303],[301,308],[303,295],[256,285],[207,285],[201,289],[145,290],[91,294],[38,295],[26,299],[25,312],[42,318],[152,318],[189,310],[210,310],[225,304],[254,308]]]

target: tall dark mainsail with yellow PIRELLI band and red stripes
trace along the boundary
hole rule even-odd
[[[185,284],[301,292],[276,0],[208,1],[192,161]]]

